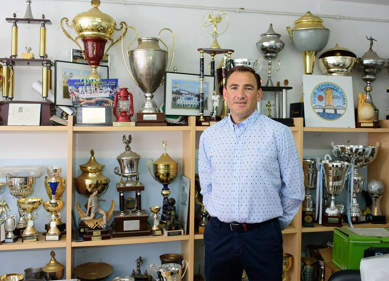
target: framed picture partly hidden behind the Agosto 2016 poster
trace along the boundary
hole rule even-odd
[[[73,106],[69,96],[69,79],[88,79],[92,68],[85,63],[72,63],[69,61],[54,61],[54,94],[55,105]],[[99,66],[97,72],[102,79],[108,79],[109,67]]]

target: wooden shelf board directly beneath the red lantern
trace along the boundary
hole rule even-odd
[[[190,131],[190,126],[135,126],[135,127],[113,127],[113,126],[74,126],[75,132],[123,132],[123,131]]]

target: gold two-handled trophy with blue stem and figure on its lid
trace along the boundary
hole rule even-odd
[[[178,171],[178,162],[174,161],[169,154],[166,153],[166,145],[167,141],[162,142],[164,152],[159,157],[159,159],[153,162],[152,159],[149,159],[147,162],[147,167],[149,168],[149,172],[157,182],[163,184],[163,188],[161,190],[161,195],[163,196],[163,205],[162,205],[162,215],[161,215],[161,223],[166,223],[166,211],[168,207],[168,197],[170,195],[170,189],[168,185],[172,183],[177,176],[181,173],[182,170],[182,159],[178,158],[180,161],[180,170]],[[150,162],[153,166],[153,172],[150,169]],[[178,172],[177,172],[178,171]]]

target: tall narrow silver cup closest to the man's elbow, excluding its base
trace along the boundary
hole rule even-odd
[[[316,159],[303,159],[305,199],[303,201],[303,211],[315,211],[314,199],[311,190],[316,188],[317,168]]]

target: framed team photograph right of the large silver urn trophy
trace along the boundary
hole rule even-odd
[[[165,72],[165,115],[199,116],[200,74]],[[204,75],[204,116],[213,111],[215,77]]]

